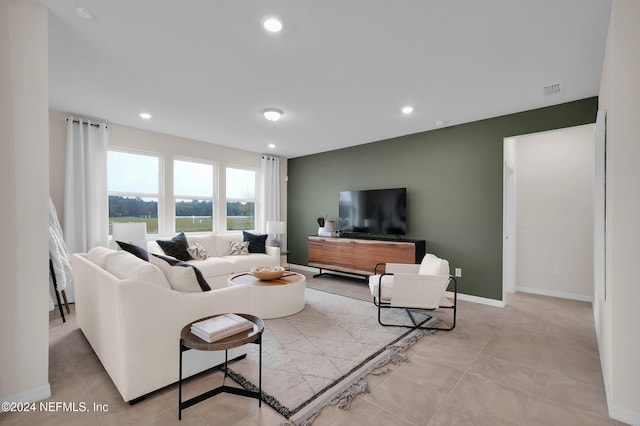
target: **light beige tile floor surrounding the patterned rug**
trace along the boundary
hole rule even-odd
[[[310,287],[370,299],[364,282],[307,276]],[[421,339],[408,362],[369,376],[369,393],[348,411],[326,407],[314,426],[622,424],[607,415],[590,303],[513,294],[506,308],[459,306],[454,331]],[[185,410],[179,422],[175,385],[124,403],[78,330],[73,305],[64,324],[57,310],[50,315],[49,362],[48,401],[83,402],[88,412],[2,413],[0,424],[287,424],[266,404],[228,394]],[[221,380],[219,372],[190,380],[185,398]],[[94,403],[108,411],[95,411]]]

